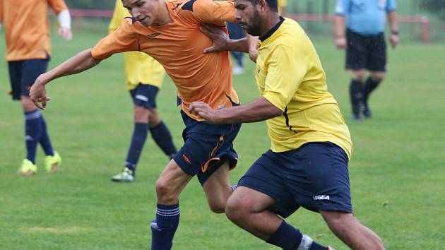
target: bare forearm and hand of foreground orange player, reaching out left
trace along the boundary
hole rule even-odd
[[[45,85],[54,79],[62,76],[69,76],[76,73],[81,73],[87,69],[93,68],[100,63],[100,60],[96,60],[91,56],[91,49],[86,49],[76,56],[64,61],[56,68],[48,71],[47,73],[42,73],[32,85],[30,90],[30,98],[34,102],[35,106],[40,109],[45,109],[47,101],[50,100],[47,97]]]

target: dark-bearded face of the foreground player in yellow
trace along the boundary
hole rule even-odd
[[[235,0],[235,18],[247,33],[259,36],[261,32],[261,18],[256,4],[249,0]]]

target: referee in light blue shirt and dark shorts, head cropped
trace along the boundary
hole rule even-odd
[[[346,69],[352,71],[350,98],[352,119],[372,116],[369,94],[384,79],[386,71],[385,13],[391,29],[389,41],[398,44],[395,0],[337,0],[336,46],[346,47]],[[369,77],[364,81],[364,75]],[[364,83],[363,83],[364,81]]]

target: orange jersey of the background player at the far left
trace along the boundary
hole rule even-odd
[[[48,6],[57,14],[68,9],[63,0],[0,0],[7,61],[45,59],[51,54]]]

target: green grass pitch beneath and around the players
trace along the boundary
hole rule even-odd
[[[54,67],[101,34],[83,33],[71,42],[54,37]],[[4,41],[3,35],[0,37]],[[350,121],[343,52],[315,37],[328,87],[348,121],[355,152],[350,161],[355,215],[377,232],[387,249],[445,246],[445,46],[401,44],[389,51],[388,76],[372,96],[374,117]],[[4,54],[4,42],[0,43]],[[172,55],[174,56],[174,55]],[[234,78],[242,102],[258,97],[253,64]],[[43,168],[33,177],[15,174],[25,156],[23,114],[11,102],[7,66],[0,62],[0,249],[148,249],[155,215],[155,180],[167,157],[148,139],[136,182],[110,181],[123,165],[133,129],[132,104],[124,89],[122,57],[113,56],[78,76],[48,85],[43,112],[54,147],[63,157],[56,174]],[[166,79],[158,95],[162,118],[182,145],[183,124],[176,91]],[[233,182],[269,147],[264,123],[244,124],[235,141],[239,165]],[[384,206],[384,203],[386,206]],[[180,197],[181,222],[173,249],[275,249],[208,210],[201,186],[192,180]],[[287,219],[305,234],[347,249],[316,213],[298,210]]]

